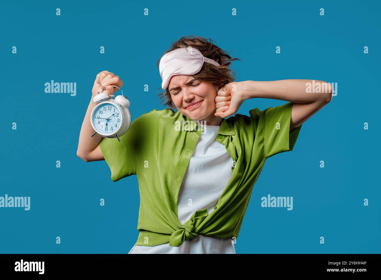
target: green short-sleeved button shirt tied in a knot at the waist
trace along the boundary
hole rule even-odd
[[[138,176],[139,237],[135,245],[169,242],[180,246],[186,238],[200,234],[237,238],[264,162],[293,150],[298,138],[301,126],[289,133],[292,105],[288,102],[263,111],[255,108],[250,116],[237,113],[222,120],[216,141],[225,145],[233,159],[232,176],[213,212],[208,214],[207,208],[195,211],[183,225],[177,216],[179,189],[203,127],[178,110],[155,109],[133,120],[121,142],[104,137],[99,146],[112,181]]]

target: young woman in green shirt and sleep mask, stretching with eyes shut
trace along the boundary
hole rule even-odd
[[[264,162],[292,150],[302,124],[331,101],[331,86],[323,81],[234,82],[232,60],[203,37],[173,43],[158,61],[160,95],[170,108],[134,119],[121,142],[89,136],[93,96],[104,86],[111,94],[110,85],[123,85],[108,71],[96,76],[77,155],[106,160],[114,182],[138,177],[139,237],[129,253],[235,253]],[[322,93],[308,93],[309,83]],[[288,102],[235,114],[251,98]]]

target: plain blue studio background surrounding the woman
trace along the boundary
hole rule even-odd
[[[337,96],[304,123],[294,150],[265,163],[236,252],[381,253],[380,4],[342,3],[2,3],[0,196],[30,196],[31,208],[0,208],[0,253],[130,251],[138,238],[137,177],[112,182],[105,161],[77,157],[80,128],[102,70],[123,80],[133,119],[164,109],[156,97],[161,92],[156,62],[185,35],[212,38],[242,59],[232,62],[237,81],[338,83]],[[77,95],[45,93],[51,80],[76,82]],[[249,99],[238,113],[285,102]],[[293,210],[262,208],[267,194],[292,196]],[[369,206],[363,206],[364,198]],[[319,243],[321,236],[325,244]]]

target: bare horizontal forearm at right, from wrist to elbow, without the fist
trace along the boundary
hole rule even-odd
[[[243,81],[240,85],[244,99],[271,98],[311,104],[331,100],[331,85],[319,80]],[[310,83],[310,84],[309,84]],[[320,83],[320,85],[318,85]],[[317,86],[320,92],[317,93]],[[312,89],[312,92],[311,92]],[[309,91],[310,90],[310,91]]]

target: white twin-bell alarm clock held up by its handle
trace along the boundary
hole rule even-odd
[[[120,142],[119,136],[125,134],[131,125],[131,112],[128,109],[130,101],[127,96],[123,96],[123,91],[118,86],[114,87],[120,89],[122,95],[118,95],[115,99],[112,99],[114,95],[110,95],[109,99],[109,95],[103,92],[106,87],[93,98],[94,103],[99,104],[94,107],[90,115],[91,126],[95,130],[91,137],[98,133],[107,138],[118,138]]]

